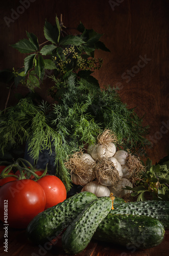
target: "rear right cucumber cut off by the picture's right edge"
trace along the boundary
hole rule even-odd
[[[139,201],[115,204],[112,214],[132,214],[151,216],[169,228],[169,201]]]

